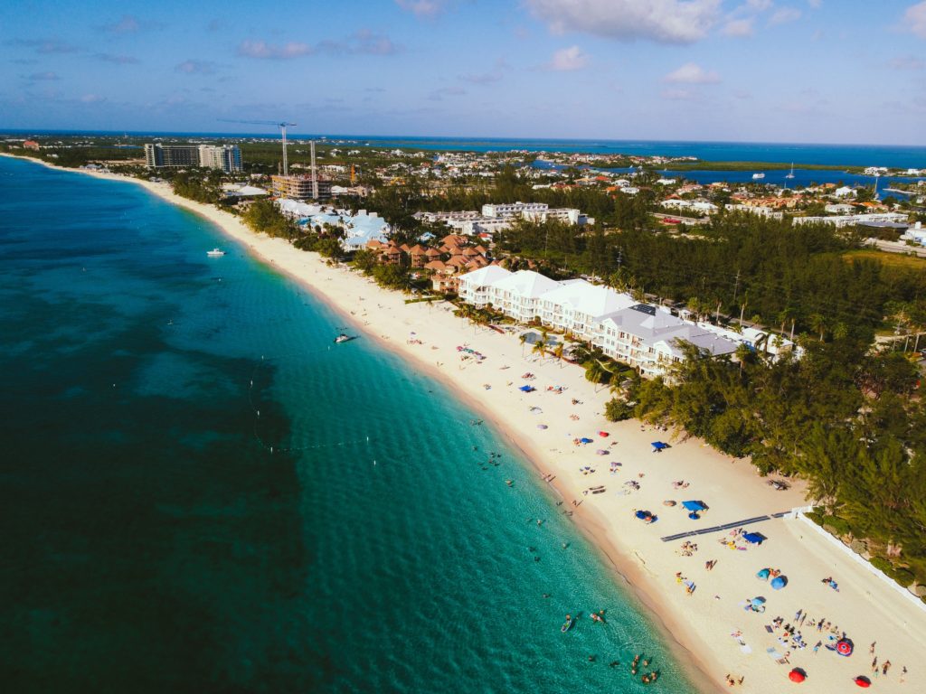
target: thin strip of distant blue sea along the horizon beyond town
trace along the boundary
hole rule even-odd
[[[19,135],[83,134],[76,130],[14,130]],[[92,134],[121,135],[119,132]],[[174,137],[272,138],[264,130],[252,133],[129,132],[130,135]],[[841,167],[926,168],[926,146],[899,144],[718,143],[677,140],[565,140],[544,138],[407,137],[290,133],[292,140],[323,138],[370,147],[412,147],[443,152],[581,152],[601,155],[696,156],[703,161],[762,161]],[[796,172],[795,172],[796,173]],[[731,179],[732,180],[732,179]],[[768,177],[767,177],[768,180]]]

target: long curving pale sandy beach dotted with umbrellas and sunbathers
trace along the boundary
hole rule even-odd
[[[554,476],[550,484],[565,500],[558,508],[564,513],[574,512],[579,527],[595,540],[718,688],[728,688],[727,674],[745,677],[742,686],[733,688],[748,692],[804,688],[815,694],[836,694],[855,690],[853,678],[857,675],[868,675],[871,688],[880,691],[926,688],[926,663],[918,662],[926,652],[926,612],[803,520],[781,517],[739,523],[805,505],[799,488],[773,490],[751,465],[732,461],[699,440],[673,440],[671,432],[643,428],[635,421],[608,423],[602,415],[609,398],[607,390],[595,392],[580,367],[560,365],[552,358],[540,362],[529,348],[522,356],[515,335],[474,328],[453,316],[449,304],[405,304],[402,294],[383,291],[344,267],[326,266],[317,254],[299,251],[280,239],[258,236],[237,217],[174,195],[167,184],[86,173],[131,180],[215,222],[249,252],[350,316],[362,335],[381,340],[389,349],[443,378],[479,407],[487,420],[528,455],[541,471],[538,475]],[[457,351],[461,345],[486,358],[481,363],[461,359]],[[519,378],[525,372],[536,378]],[[537,390],[518,390],[527,382]],[[565,391],[557,394],[547,390],[556,386]],[[573,399],[582,403],[573,405]],[[532,412],[532,407],[542,412]],[[541,424],[547,428],[538,428]],[[609,436],[600,437],[599,431]],[[577,437],[593,442],[573,445]],[[671,448],[656,454],[650,446],[654,440],[669,441]],[[598,455],[598,449],[608,454]],[[615,472],[609,471],[612,462],[619,463]],[[586,466],[594,471],[583,472]],[[682,480],[686,488],[673,487],[673,482]],[[631,481],[640,489],[626,485]],[[583,493],[593,487],[605,491]],[[523,493],[517,488],[511,492]],[[679,505],[666,506],[667,500]],[[681,508],[685,500],[703,501],[709,510],[699,520],[691,520]],[[574,507],[573,501],[579,505]],[[647,525],[634,517],[634,510],[649,511],[658,520]],[[684,540],[660,540],[726,524],[760,532],[768,539],[761,546],[731,549],[720,540],[732,540],[732,530],[713,532],[689,538],[697,545],[692,556],[682,556]],[[738,541],[737,545],[745,543]],[[709,560],[717,561],[712,570],[706,567]],[[773,590],[758,579],[756,573],[764,567],[780,568],[788,578],[787,587]],[[676,577],[677,572],[693,582],[691,594]],[[838,591],[820,582],[828,576],[838,582]],[[766,612],[745,611],[745,601],[757,596],[767,599]],[[795,622],[798,610],[808,615],[802,626]],[[770,633],[766,627],[778,615],[784,624],[795,625],[796,631],[802,632],[806,649],[781,643],[781,629]],[[854,640],[852,656],[842,657],[824,647],[813,652],[819,640],[824,646],[835,642],[828,638],[831,631],[819,632],[809,626],[810,619],[820,618],[832,623],[835,636],[845,631]],[[879,671],[882,663],[891,663],[887,675],[872,673],[872,642],[876,643]],[[788,662],[776,663],[769,649],[782,656],[790,653]],[[904,666],[909,671],[906,682],[901,681]],[[804,684],[788,680],[793,667],[807,672]]]

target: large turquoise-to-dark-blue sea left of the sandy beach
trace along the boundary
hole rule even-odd
[[[4,689],[693,691],[518,452],[341,323],[131,184],[0,158]]]

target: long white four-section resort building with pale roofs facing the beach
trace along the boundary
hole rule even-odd
[[[734,353],[738,342],[748,343],[672,316],[662,306],[641,304],[629,294],[584,279],[557,282],[531,270],[482,267],[460,277],[459,296],[476,306],[492,304],[522,323],[539,320],[568,331],[647,377],[682,360],[682,341],[713,355]]]

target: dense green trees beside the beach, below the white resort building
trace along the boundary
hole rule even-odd
[[[823,525],[926,584],[926,405],[907,355],[872,353],[851,331],[802,340],[800,359],[707,358],[689,345],[670,378],[634,378],[607,405],[751,456],[762,474],[807,480]],[[890,573],[890,572],[889,572]]]

